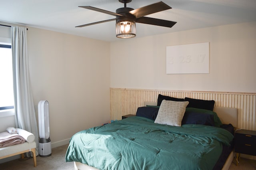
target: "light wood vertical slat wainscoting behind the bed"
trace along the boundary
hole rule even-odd
[[[111,119],[120,120],[122,115],[136,115],[137,108],[142,107],[144,101],[157,102],[158,94],[176,98],[214,100],[215,106],[237,108],[237,128],[256,130],[256,93],[110,88]]]

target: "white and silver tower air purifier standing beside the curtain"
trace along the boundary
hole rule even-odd
[[[42,100],[38,103],[38,126],[39,126],[39,156],[52,155],[50,139],[49,103]]]

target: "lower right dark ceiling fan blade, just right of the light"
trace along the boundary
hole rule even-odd
[[[174,21],[161,20],[161,19],[149,18],[149,17],[137,18],[136,22],[142,23],[142,24],[151,24],[151,25],[155,25],[155,26],[169,27],[169,28],[171,28],[172,26],[174,26],[174,24],[177,23]]]

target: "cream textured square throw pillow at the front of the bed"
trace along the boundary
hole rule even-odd
[[[180,127],[188,101],[163,100],[154,123]]]

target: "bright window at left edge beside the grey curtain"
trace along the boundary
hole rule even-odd
[[[14,108],[11,45],[0,43],[0,111]]]

